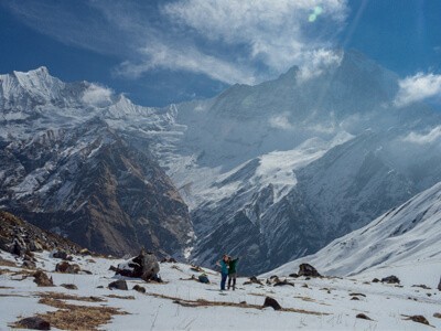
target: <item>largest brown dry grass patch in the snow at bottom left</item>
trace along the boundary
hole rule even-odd
[[[98,330],[100,325],[107,324],[111,320],[112,316],[128,314],[128,312],[121,311],[120,309],[114,307],[77,306],[66,303],[62,301],[62,299],[52,298],[52,295],[54,293],[43,293],[39,303],[58,308],[58,310],[40,313],[37,317],[49,321],[52,327],[57,329]],[[55,295],[57,298],[63,298],[64,300],[79,300],[88,302],[104,301],[104,299],[96,297],[77,297],[64,293]]]

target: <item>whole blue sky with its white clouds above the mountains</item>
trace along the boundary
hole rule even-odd
[[[161,106],[306,75],[356,49],[399,74],[398,104],[441,105],[441,0],[10,0],[0,73],[41,65]]]

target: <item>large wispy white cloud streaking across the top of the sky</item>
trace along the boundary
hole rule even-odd
[[[61,42],[112,54],[115,70],[158,70],[254,84],[292,65],[303,78],[338,63],[331,51],[347,0],[42,1],[3,3],[29,26]]]

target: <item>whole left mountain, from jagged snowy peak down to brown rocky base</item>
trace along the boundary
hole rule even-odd
[[[187,206],[153,158],[84,100],[90,85],[64,84],[44,68],[0,79],[9,118],[0,143],[4,209],[97,252],[184,254]],[[116,117],[127,110],[121,104],[105,111]]]

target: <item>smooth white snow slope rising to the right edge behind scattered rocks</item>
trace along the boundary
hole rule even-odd
[[[288,275],[308,261],[329,276],[385,277],[434,284],[441,276],[441,182],[314,255],[270,274]]]

